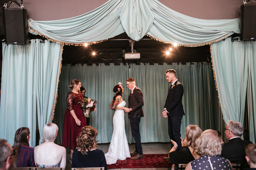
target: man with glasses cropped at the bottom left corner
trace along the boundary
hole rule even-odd
[[[7,140],[0,139],[0,170],[9,170],[13,165],[15,150],[7,143]]]

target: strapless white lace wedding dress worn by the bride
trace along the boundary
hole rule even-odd
[[[118,106],[124,107],[125,105],[126,103],[123,101]],[[114,131],[108,152],[105,154],[108,165],[115,164],[117,160],[125,160],[131,157],[125,134],[124,110],[116,110],[113,117],[113,124]]]

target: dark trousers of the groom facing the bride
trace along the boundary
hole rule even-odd
[[[142,146],[141,146],[141,141],[140,141],[139,122],[140,122],[140,117],[130,118],[132,137],[135,140],[135,151],[139,155],[142,155],[143,152],[142,152]]]

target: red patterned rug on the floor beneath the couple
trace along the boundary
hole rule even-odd
[[[116,164],[107,165],[107,169],[116,168],[170,168],[172,164],[169,161],[163,160],[163,157],[168,157],[168,154],[146,154],[143,159],[118,160]]]

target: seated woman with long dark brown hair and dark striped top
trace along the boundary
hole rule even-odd
[[[14,155],[14,167],[36,167],[34,161],[34,148],[29,147],[30,131],[27,127],[19,128],[14,137],[12,148],[17,153]]]

